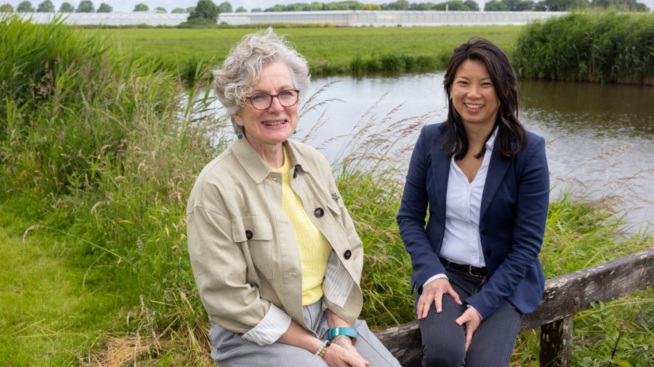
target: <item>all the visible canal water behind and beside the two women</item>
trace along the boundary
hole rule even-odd
[[[317,121],[308,143],[336,159],[343,135],[371,116],[386,126],[422,116],[438,123],[447,115],[444,73],[392,76],[337,76],[313,79],[313,102],[324,105],[305,113],[295,139],[303,139]],[[654,219],[654,87],[520,80],[522,121],[548,142],[552,195],[563,187],[589,187],[592,196],[619,195],[634,207],[627,216],[639,225]],[[391,113],[390,117],[385,119]],[[419,129],[401,137],[412,145]]]

